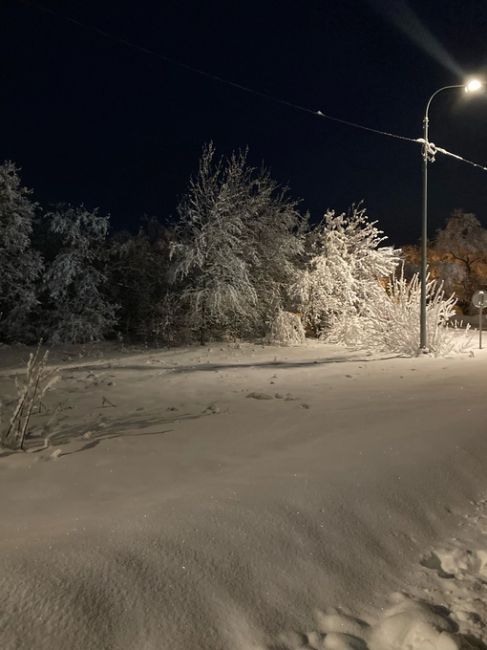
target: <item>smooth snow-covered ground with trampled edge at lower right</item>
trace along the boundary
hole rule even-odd
[[[487,647],[485,351],[52,360],[0,458],[3,650]]]

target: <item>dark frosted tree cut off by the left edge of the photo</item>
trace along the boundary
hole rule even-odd
[[[37,304],[42,271],[31,237],[36,204],[21,186],[19,170],[0,165],[0,340],[29,340],[29,315]]]

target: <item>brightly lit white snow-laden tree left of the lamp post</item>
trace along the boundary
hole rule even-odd
[[[342,320],[359,316],[368,301],[381,299],[380,282],[398,264],[398,251],[363,208],[328,211],[309,234],[308,261],[293,293],[307,328],[326,335]]]

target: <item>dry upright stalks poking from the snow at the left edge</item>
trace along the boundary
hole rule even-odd
[[[15,380],[17,388],[17,404],[5,429],[0,422],[0,446],[18,451],[23,449],[24,440],[28,434],[29,421],[33,413],[41,407],[42,398],[46,391],[58,380],[57,369],[46,368],[49,352],[41,355],[41,344],[35,352],[29,355],[26,377],[23,381]]]

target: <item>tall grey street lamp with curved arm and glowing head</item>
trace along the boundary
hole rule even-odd
[[[484,84],[479,79],[470,79],[465,84],[443,86],[438,88],[426,104],[423,119],[423,218],[421,222],[421,304],[419,317],[419,348],[422,352],[428,351],[428,334],[426,328],[426,274],[428,267],[428,162],[432,160],[432,151],[428,140],[429,108],[438,93],[450,88],[463,88],[466,93],[476,93],[482,90]]]

